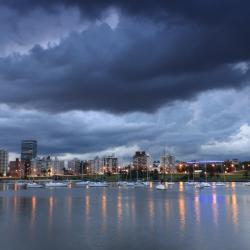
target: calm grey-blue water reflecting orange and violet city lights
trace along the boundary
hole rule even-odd
[[[0,191],[0,249],[250,249],[250,187]]]

